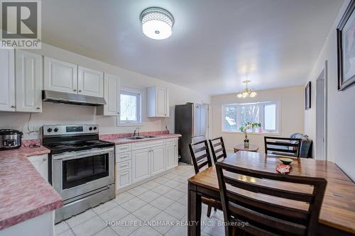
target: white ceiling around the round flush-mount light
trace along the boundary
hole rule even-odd
[[[305,84],[343,0],[44,0],[43,41],[204,93]],[[173,35],[139,14],[173,13]],[[336,45],[334,45],[336,47]]]

